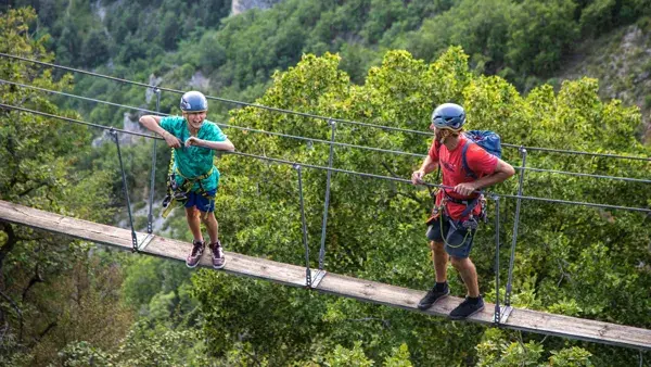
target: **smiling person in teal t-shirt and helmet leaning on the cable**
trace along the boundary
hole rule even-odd
[[[234,151],[235,147],[214,123],[206,119],[208,101],[197,91],[181,97],[181,116],[140,117],[140,124],[165,138],[174,149],[173,173],[177,193],[184,193],[186,218],[194,240],[186,265],[195,267],[205,249],[201,232],[203,222],[210,237],[213,267],[220,269],[226,264],[224,250],[218,239],[215,218],[215,194],[219,186],[219,170],[214,165],[215,151]]]

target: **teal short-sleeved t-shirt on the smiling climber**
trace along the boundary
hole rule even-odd
[[[201,185],[204,190],[210,191],[217,189],[219,185],[219,170],[215,167],[214,156],[215,151],[203,147],[189,147],[186,148],[186,140],[190,138],[190,130],[186,118],[181,116],[167,116],[161,118],[161,127],[169,134],[174,135],[181,141],[181,148],[174,149],[174,164],[173,169],[178,170],[188,178],[194,178],[207,174],[213,168],[213,174],[207,178],[201,180]],[[202,140],[208,141],[226,141],[227,137],[221,131],[219,126],[215,125],[209,121],[204,121],[201,129],[196,134],[196,137]],[[181,185],[183,178],[178,174],[176,175],[178,185]],[[192,191],[199,190],[199,182],[195,182],[192,187]]]

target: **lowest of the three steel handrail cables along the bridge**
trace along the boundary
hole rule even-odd
[[[24,107],[18,107],[18,106],[14,106],[14,105],[10,105],[10,104],[0,103],[0,107],[8,107],[8,109],[13,109],[13,110],[18,110],[18,111],[23,111],[23,112],[27,112],[27,113],[33,113],[33,114],[38,114],[38,115],[43,115],[43,116],[48,116],[48,117],[63,119],[63,121],[75,123],[75,124],[81,124],[81,125],[98,127],[98,128],[101,128],[101,129],[106,129],[106,130],[113,129],[115,131],[119,131],[119,132],[124,132],[124,134],[141,136],[141,137],[145,137],[145,138],[150,138],[150,139],[159,139],[159,140],[163,140],[163,138],[155,137],[155,136],[152,136],[152,135],[146,135],[146,134],[142,134],[142,132],[136,132],[136,131],[127,131],[127,130],[124,130],[124,129],[117,129],[117,128],[114,128],[114,127],[108,127],[108,126],[104,126],[104,125],[98,125],[98,124],[93,124],[93,123],[82,122],[82,121],[75,119],[75,118],[52,115],[52,114],[49,114],[49,113],[44,113],[44,112],[40,112],[40,111],[35,111],[35,110],[29,110],[29,109],[24,109]],[[251,154],[251,153],[226,152],[226,151],[224,153],[233,154],[233,155],[241,155],[241,156],[248,156],[248,157],[254,157],[254,159],[259,159],[259,160],[266,160],[266,161],[269,161],[269,162],[289,164],[289,165],[292,165],[292,166],[298,164],[302,167],[308,167],[308,168],[314,168],[314,169],[332,170],[332,172],[336,172],[336,173],[350,174],[350,175],[360,176],[360,177],[379,178],[379,179],[384,179],[384,180],[390,180],[390,181],[411,184],[411,180],[405,179],[405,178],[398,178],[398,177],[391,177],[391,176],[382,176],[382,175],[375,175],[375,174],[360,173],[360,172],[356,172],[356,170],[348,170],[348,169],[341,169],[341,168],[329,168],[329,167],[314,165],[314,164],[292,162],[292,161],[288,161],[288,160],[275,159],[275,157],[269,157],[269,156],[264,156],[264,155],[256,155],[256,154]],[[436,187],[436,188],[444,188],[444,189],[452,189],[451,187],[444,186],[444,185],[436,185],[436,184],[426,184],[426,186],[429,186],[429,187]],[[624,211],[630,211],[630,212],[640,212],[640,213],[651,214],[651,208],[646,208],[646,207],[630,207],[630,206],[622,206],[622,205],[598,204],[598,203],[579,202],[579,201],[569,201],[569,200],[561,200],[561,199],[549,199],[549,198],[513,195],[513,194],[506,194],[506,193],[484,192],[484,194],[486,194],[486,195],[496,194],[496,195],[499,195],[501,198],[523,199],[523,200],[532,200],[532,201],[542,201],[542,202],[549,202],[549,203],[557,203],[557,204],[592,206],[592,207],[612,208],[612,210],[624,210]]]

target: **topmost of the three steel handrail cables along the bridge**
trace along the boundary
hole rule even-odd
[[[120,81],[120,83],[125,83],[125,84],[131,84],[131,85],[141,86],[141,87],[145,87],[145,88],[152,88],[152,89],[158,88],[158,89],[161,89],[163,91],[169,91],[169,92],[174,92],[174,93],[183,93],[182,90],[178,90],[178,89],[163,88],[163,87],[159,87],[159,86],[153,86],[153,85],[148,85],[148,84],[144,84],[144,83],[133,81],[133,80],[128,80],[128,79],[122,79],[122,78],[117,78],[117,77],[113,77],[113,76],[107,76],[107,75],[103,75],[103,74],[87,72],[87,71],[82,71],[82,69],[78,69],[78,68],[74,68],[74,67],[69,67],[69,66],[56,65],[56,64],[47,63],[47,62],[43,62],[43,61],[38,61],[38,60],[33,60],[33,59],[27,59],[27,58],[23,58],[23,56],[17,56],[17,55],[13,55],[13,54],[8,54],[8,53],[0,52],[0,56],[15,59],[15,60],[21,60],[21,61],[26,61],[26,62],[31,62],[31,63],[35,63],[35,64],[46,65],[46,66],[50,66],[50,67],[54,67],[54,68],[62,68],[62,69],[75,72],[75,73],[87,74],[87,75],[97,76],[97,77],[100,77],[100,78],[111,79],[111,80],[114,80],[114,81]],[[393,130],[393,131],[400,131],[400,132],[417,134],[417,135],[422,135],[422,136],[431,136],[431,132],[425,132],[425,131],[404,129],[404,128],[391,127],[391,126],[384,126],[384,125],[376,125],[376,124],[360,123],[360,122],[350,121],[350,119],[343,119],[343,118],[326,117],[326,116],[309,114],[309,113],[305,113],[305,112],[297,112],[297,111],[292,111],[292,110],[284,110],[284,109],[271,107],[271,106],[267,106],[267,105],[263,105],[263,104],[248,103],[248,102],[242,102],[242,101],[235,101],[235,100],[229,100],[229,99],[219,98],[219,97],[206,96],[206,99],[216,100],[216,101],[220,101],[220,102],[232,103],[232,104],[239,104],[239,105],[244,105],[244,106],[251,106],[251,107],[256,107],[256,109],[261,109],[261,110],[268,110],[268,111],[273,111],[273,112],[279,112],[279,113],[298,115],[298,116],[303,116],[303,117],[310,117],[310,118],[316,118],[316,119],[321,119],[321,121],[333,121],[333,122],[337,122],[337,123],[353,124],[353,125],[359,125],[359,126],[366,126],[366,127],[373,127],[373,128],[379,128],[379,129],[384,129],[384,130]],[[634,155],[622,155],[622,154],[610,154],[610,153],[593,153],[593,152],[583,152],[583,151],[574,151],[574,150],[553,149],[553,148],[526,147],[526,145],[511,144],[511,143],[501,143],[501,144],[503,147],[508,147],[508,148],[520,149],[522,147],[522,148],[527,149],[527,150],[541,151],[541,152],[548,152],[548,153],[578,154],[578,155],[602,156],[602,157],[612,157],[612,159],[622,159],[622,160],[637,160],[637,161],[648,161],[648,162],[651,162],[651,157],[646,157],[646,156],[634,156]]]

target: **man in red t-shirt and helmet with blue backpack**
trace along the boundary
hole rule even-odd
[[[420,301],[418,308],[427,309],[434,302],[450,293],[447,283],[447,262],[459,271],[468,294],[465,300],[452,309],[451,319],[463,319],[484,309],[480,294],[477,271],[469,253],[481,215],[481,190],[513,176],[515,170],[505,161],[486,152],[483,148],[463,136],[465,112],[455,103],[444,103],[432,113],[430,129],[434,141],[421,167],[413,172],[413,185],[424,184],[422,178],[441,166],[443,188],[436,194],[436,205],[427,222],[427,239],[432,249],[432,262],[436,273],[436,284]],[[463,145],[465,162],[472,173],[463,167]],[[476,177],[476,178],[475,178]]]

